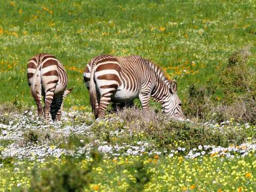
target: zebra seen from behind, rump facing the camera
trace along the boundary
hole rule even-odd
[[[43,95],[46,121],[49,121],[50,113],[53,120],[59,121],[63,98],[73,90],[66,89],[68,77],[61,63],[51,54],[37,54],[28,61],[27,76],[38,115],[43,115]]]

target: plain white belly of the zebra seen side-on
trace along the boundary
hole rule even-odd
[[[129,90],[118,90],[112,95],[111,101],[114,102],[130,102],[139,98],[139,92],[131,92]]]

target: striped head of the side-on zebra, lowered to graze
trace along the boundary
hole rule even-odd
[[[177,94],[177,82],[175,80],[171,82],[169,93],[166,103],[163,104],[164,113],[169,114],[171,117],[183,119],[182,103]]]

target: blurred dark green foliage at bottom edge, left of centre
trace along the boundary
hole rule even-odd
[[[92,182],[90,175],[93,166],[97,166],[102,157],[93,152],[93,162],[81,169],[79,164],[83,156],[74,158],[66,156],[61,164],[48,163],[47,166],[35,167],[32,171],[30,191],[82,191]]]

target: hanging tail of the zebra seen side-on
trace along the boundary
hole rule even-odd
[[[94,116],[98,116],[98,110],[96,108],[96,103],[97,103],[97,92],[96,92],[96,85],[94,82],[94,67],[96,63],[93,61],[92,62],[92,67],[91,67],[91,75],[90,75],[90,104],[92,106],[92,112],[94,113]]]

